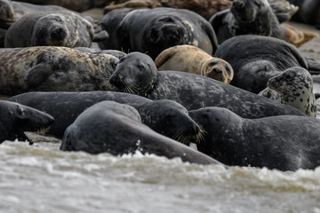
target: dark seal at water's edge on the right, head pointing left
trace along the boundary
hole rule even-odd
[[[226,108],[189,112],[207,134],[197,149],[234,166],[313,170],[320,165],[320,121],[279,115],[244,119]]]

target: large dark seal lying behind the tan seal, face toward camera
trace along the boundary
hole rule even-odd
[[[117,9],[100,21],[108,40],[100,42],[102,50],[140,51],[152,59],[165,49],[191,44],[212,54],[218,47],[212,26],[203,17],[183,9]]]

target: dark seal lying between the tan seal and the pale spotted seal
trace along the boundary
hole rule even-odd
[[[287,68],[314,69],[315,74],[320,70],[319,63],[305,58],[292,44],[268,36],[232,37],[221,43],[215,56],[233,67],[235,75],[230,84],[254,93],[264,90],[269,78]]]

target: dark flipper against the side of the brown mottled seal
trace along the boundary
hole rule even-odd
[[[26,79],[28,89],[36,88],[39,84],[44,83],[52,73],[52,66],[49,64],[38,64],[36,67],[32,67]]]

